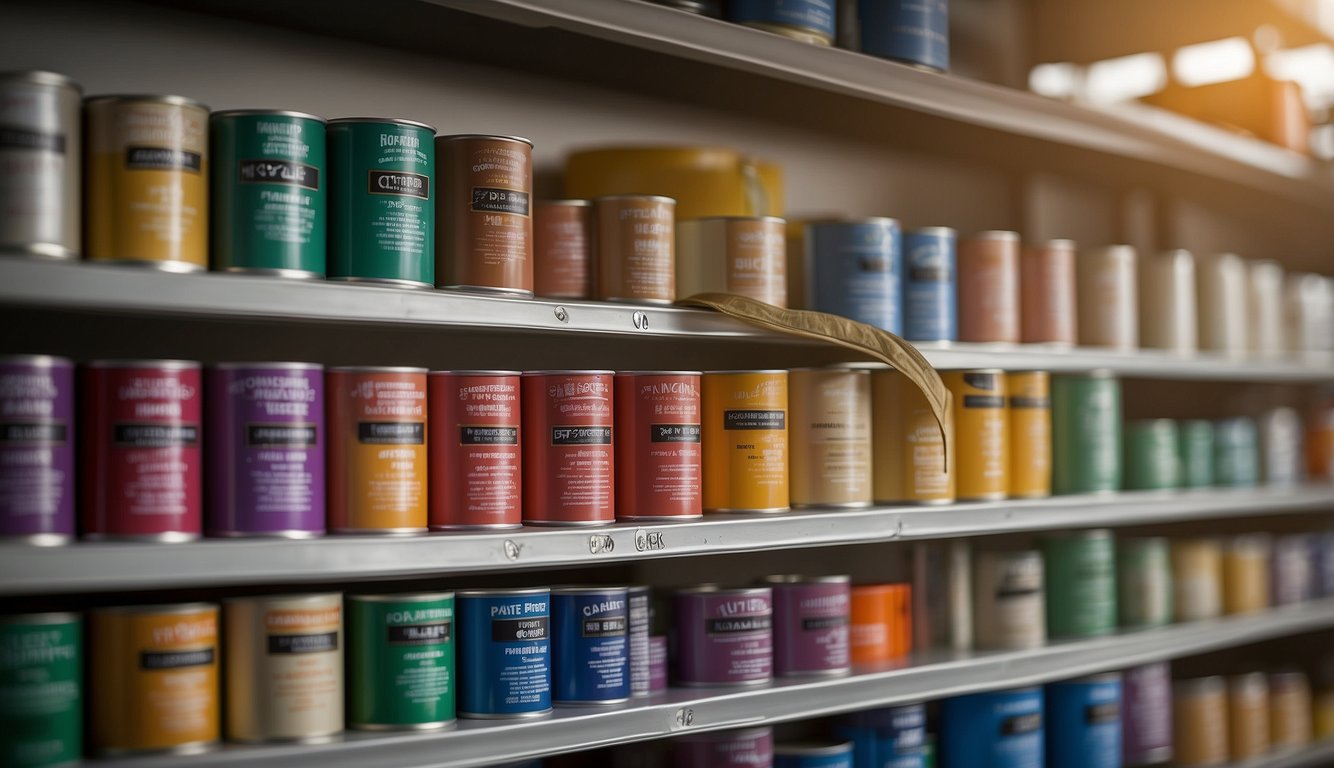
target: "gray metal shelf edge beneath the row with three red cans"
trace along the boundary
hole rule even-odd
[[[524,528],[416,537],[205,539],[185,544],[0,545],[0,595],[350,581],[600,565],[874,541],[910,541],[1334,511],[1334,485],[1058,496],[942,507],[710,515],[606,528]]]

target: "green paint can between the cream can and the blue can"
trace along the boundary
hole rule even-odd
[[[454,593],[348,595],[346,607],[348,727],[454,723]]]

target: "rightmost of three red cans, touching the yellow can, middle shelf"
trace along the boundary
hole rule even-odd
[[[704,515],[699,371],[616,373],[616,519]]]

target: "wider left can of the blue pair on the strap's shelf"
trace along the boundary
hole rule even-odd
[[[814,221],[806,228],[806,248],[811,309],[903,333],[898,221]]]

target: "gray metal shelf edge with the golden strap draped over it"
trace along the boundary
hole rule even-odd
[[[739,339],[815,343],[763,331],[714,312],[602,301],[511,299],[458,291],[280,280],[227,273],[173,275],[132,267],[0,257],[0,304],[212,320],[359,323],[440,329],[539,331],[575,336]],[[1217,381],[1331,381],[1334,361],[1291,357],[1243,360],[1142,349],[1114,352],[1045,345],[919,345],[942,369],[1005,368]],[[852,352],[848,352],[852,356]]]

